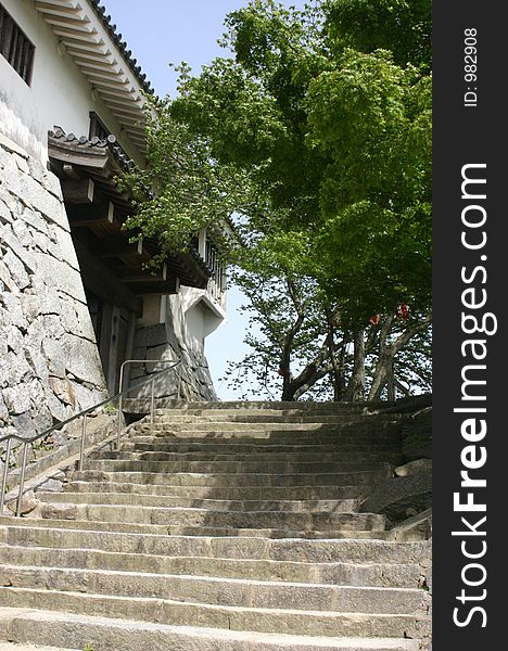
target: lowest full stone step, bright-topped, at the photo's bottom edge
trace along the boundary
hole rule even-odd
[[[417,639],[371,639],[295,636],[283,631],[262,634],[220,628],[178,627],[126,622],[117,618],[74,615],[58,611],[16,611],[10,616],[11,639],[37,640],[82,649],[86,640],[96,651],[418,651]],[[9,613],[12,613],[9,615]],[[76,646],[79,642],[80,646]]]

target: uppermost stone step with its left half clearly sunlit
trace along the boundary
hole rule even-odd
[[[85,470],[75,472],[78,481],[129,482],[132,484],[160,484],[164,486],[372,486],[392,476],[392,469],[368,470],[363,472],[314,473],[314,474],[258,474],[258,473],[190,473],[190,472],[142,472],[113,470],[115,461],[90,461],[90,464],[105,463],[109,470]],[[107,464],[110,464],[107,467]]]

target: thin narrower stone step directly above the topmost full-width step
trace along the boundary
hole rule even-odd
[[[209,525],[178,525],[178,524],[145,524],[136,522],[107,522],[101,520],[74,520],[75,509],[71,506],[63,505],[45,505],[46,515],[53,514],[53,518],[41,518],[30,520],[33,526],[46,528],[61,528],[74,531],[91,531],[105,532],[117,534],[143,534],[157,536],[188,536],[188,537],[215,537],[215,538],[263,538],[263,539],[279,539],[279,538],[303,538],[309,540],[316,539],[381,539],[388,540],[392,538],[389,531],[378,529],[291,529],[291,528],[233,528],[231,526],[209,526]],[[51,510],[49,510],[51,509]],[[58,515],[58,516],[56,516]],[[1,523],[1,521],[0,521]],[[22,525],[24,522],[22,521]],[[25,525],[26,526],[26,525]]]

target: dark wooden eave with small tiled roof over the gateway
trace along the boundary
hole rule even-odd
[[[130,242],[132,231],[124,224],[136,212],[131,197],[122,193],[115,178],[126,161],[115,143],[77,139],[58,129],[48,139],[50,163],[61,180],[71,229],[86,229],[93,241],[93,255],[129,292],[173,294],[178,285],[205,289],[209,270],[190,250],[168,256],[162,269],[147,265],[157,253],[155,239]],[[119,148],[118,148],[119,149]]]

